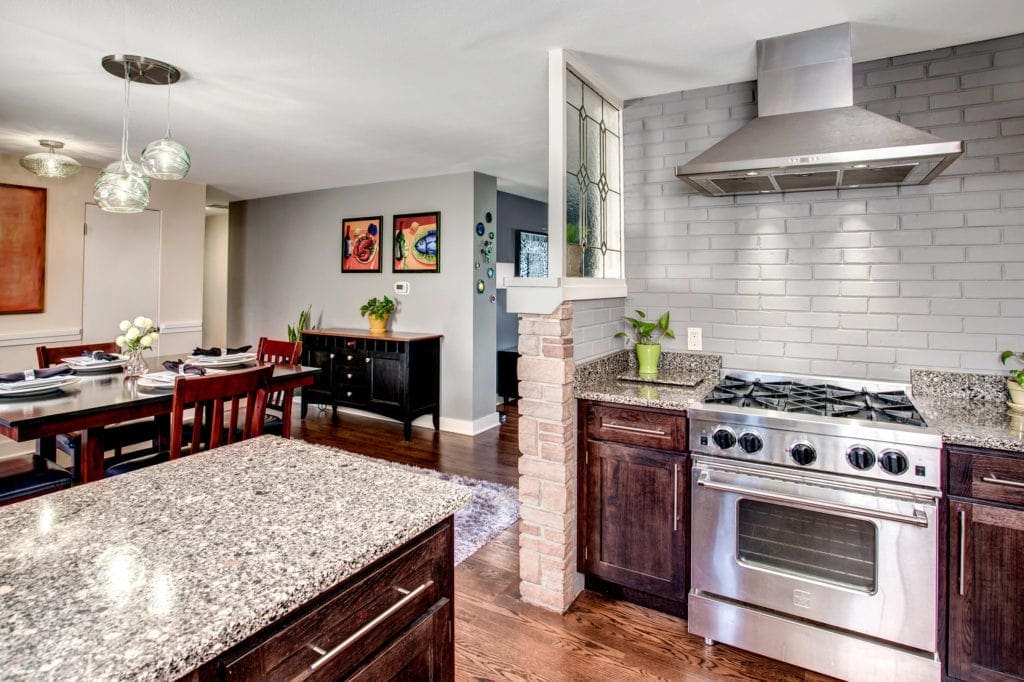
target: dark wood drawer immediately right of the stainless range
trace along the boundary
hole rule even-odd
[[[949,494],[1024,506],[1024,458],[949,447]]]

